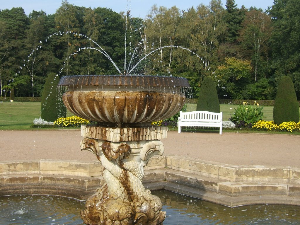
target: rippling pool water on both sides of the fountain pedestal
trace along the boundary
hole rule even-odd
[[[300,206],[262,204],[229,208],[166,190],[152,193],[162,200],[163,210],[167,212],[164,225],[283,225],[300,222]],[[59,196],[2,196],[0,220],[3,225],[82,224],[79,213],[84,204],[85,202]]]

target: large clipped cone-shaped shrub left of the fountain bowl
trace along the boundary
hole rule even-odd
[[[54,122],[60,117],[66,117],[67,109],[62,102],[63,91],[58,91],[59,77],[56,73],[49,73],[44,85],[41,98],[41,118]]]

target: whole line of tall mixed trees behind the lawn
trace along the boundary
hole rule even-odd
[[[298,0],[274,0],[265,11],[234,0],[187,11],[154,5],[145,19],[67,0],[49,15],[0,10],[1,96],[40,96],[54,72],[182,76],[194,98],[211,76],[220,99],[258,100],[273,100],[287,75],[300,99],[299,34]]]

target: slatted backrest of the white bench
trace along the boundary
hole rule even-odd
[[[190,122],[222,122],[222,112],[212,113],[208,111],[193,111],[183,113],[180,111],[179,120]]]

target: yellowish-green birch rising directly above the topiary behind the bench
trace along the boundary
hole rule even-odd
[[[189,49],[197,53],[203,63],[199,64],[199,58],[190,59],[188,63],[191,66],[197,68],[200,65],[200,68],[208,71],[211,61],[216,60],[214,57],[216,57],[220,39],[226,32],[226,26],[222,20],[223,15],[224,8],[220,0],[212,0],[208,6],[200,4],[197,10],[190,8],[183,14],[180,24],[181,38],[187,40]]]

